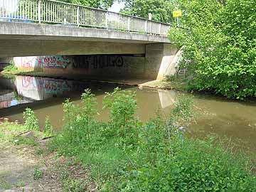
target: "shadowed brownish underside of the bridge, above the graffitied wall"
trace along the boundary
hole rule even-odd
[[[0,39],[0,57],[145,54],[145,44],[95,41]]]

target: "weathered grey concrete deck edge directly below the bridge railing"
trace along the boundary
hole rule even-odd
[[[171,43],[166,36],[99,28],[0,21],[0,39]]]

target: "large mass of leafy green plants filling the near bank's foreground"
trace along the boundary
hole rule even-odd
[[[193,117],[191,99],[177,100],[170,117],[157,113],[142,124],[134,118],[134,93],[119,88],[103,101],[110,122],[92,116],[87,122],[87,114],[79,111],[94,108],[92,97],[87,90],[82,106],[65,102],[65,118],[75,117],[70,116],[50,147],[89,167],[101,191],[255,191],[256,178],[245,156],[223,149],[213,138],[183,136]],[[77,181],[66,181],[79,189]]]

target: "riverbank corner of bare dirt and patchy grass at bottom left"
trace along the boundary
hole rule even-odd
[[[49,142],[24,124],[0,122],[0,191],[97,191],[88,170],[49,151]]]

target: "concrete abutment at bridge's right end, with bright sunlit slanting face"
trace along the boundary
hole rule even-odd
[[[154,80],[162,80],[166,75],[176,73],[178,48],[169,43],[146,45],[146,76]]]

